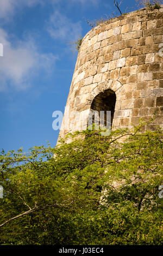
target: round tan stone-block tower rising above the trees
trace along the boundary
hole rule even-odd
[[[91,29],[82,40],[59,138],[86,129],[91,109],[111,110],[112,128],[158,116],[163,126],[163,6]]]

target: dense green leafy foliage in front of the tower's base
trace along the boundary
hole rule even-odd
[[[143,125],[2,151],[0,244],[161,245],[162,135]]]

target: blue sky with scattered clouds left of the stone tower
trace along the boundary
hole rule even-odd
[[[109,17],[114,0],[0,0],[0,148],[56,145],[52,113],[64,112],[77,52],[70,43]],[[122,12],[136,9],[124,0]],[[126,8],[128,7],[127,11]]]

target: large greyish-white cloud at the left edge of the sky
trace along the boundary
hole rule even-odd
[[[52,53],[40,54],[32,40],[18,41],[14,47],[2,28],[0,41],[3,44],[3,57],[0,57],[0,91],[6,90],[7,85],[24,90],[30,86],[31,79],[39,74],[40,70],[46,73],[52,70],[57,59]]]

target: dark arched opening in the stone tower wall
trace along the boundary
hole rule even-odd
[[[89,123],[99,123],[108,127],[112,126],[112,120],[114,118],[114,111],[115,111],[115,104],[116,104],[116,94],[114,91],[108,89],[104,92],[100,92],[91,103],[91,111],[89,116]],[[110,114],[110,118],[108,119],[107,116]],[[110,111],[110,112],[109,112]],[[92,121],[90,121],[92,119]],[[103,122],[102,122],[103,120]]]

